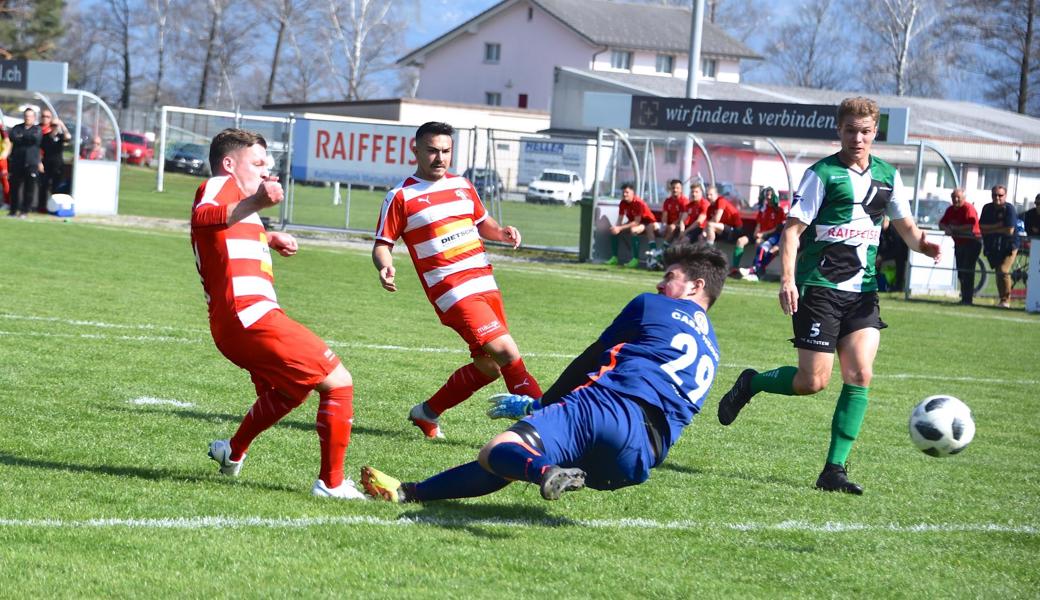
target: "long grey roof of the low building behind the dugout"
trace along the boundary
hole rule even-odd
[[[686,95],[686,80],[678,77],[561,69],[584,77],[613,81],[632,88],[635,94],[670,98],[682,98]],[[707,100],[832,104],[835,106],[850,96],[863,95],[861,92],[757,83],[725,83],[712,80],[700,81],[697,92],[698,97]],[[910,135],[913,137],[977,139],[1007,145],[1040,144],[1040,119],[971,102],[877,94],[867,96],[877,100],[881,106],[909,108]]]

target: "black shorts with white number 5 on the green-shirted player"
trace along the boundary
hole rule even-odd
[[[791,317],[796,348],[834,354],[847,335],[888,325],[881,320],[878,292],[841,291],[829,287],[804,286],[798,312]]]

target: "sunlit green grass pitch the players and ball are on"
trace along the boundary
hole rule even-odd
[[[124,209],[184,212],[183,195],[135,194],[124,192]],[[256,441],[238,479],[206,458],[254,398],[210,340],[185,230],[34,217],[0,219],[0,596],[1036,598],[1040,589],[1035,316],[883,298],[891,327],[852,455],[862,497],[812,489],[837,377],[817,396],[760,396],[732,426],[716,421],[740,369],[795,357],[775,286],[734,282],[710,313],[723,359],[705,414],[646,485],[553,503],[521,484],[426,506],[322,501],[309,495],[313,398]],[[421,478],[472,460],[504,427],[484,415],[501,384],[447,413],[441,443],[407,422],[467,353],[396,256],[396,294],[380,288],[363,249],[304,239],[298,256],[276,258],[282,305],[355,377],[355,477],[371,464]],[[655,283],[648,272],[493,260],[543,386]],[[935,393],[974,411],[976,440],[958,456],[931,459],[909,442],[910,409]]]

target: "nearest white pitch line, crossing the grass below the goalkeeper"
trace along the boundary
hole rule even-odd
[[[172,517],[159,519],[0,519],[0,527],[30,529],[116,528],[131,529],[233,529],[233,528],[308,528],[329,525],[375,525],[408,527],[432,525],[435,527],[582,527],[595,529],[678,529],[733,531],[804,531],[810,533],[882,532],[882,533],[1021,533],[1036,536],[1035,525],[999,525],[996,523],[809,523],[782,521],[780,523],[710,523],[699,521],[655,521],[653,519],[470,519],[440,518],[402,515],[396,519],[367,516],[341,517]]]

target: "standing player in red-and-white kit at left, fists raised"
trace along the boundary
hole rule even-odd
[[[191,246],[213,342],[250,372],[257,392],[238,431],[211,443],[209,456],[220,473],[237,476],[253,440],[317,389],[321,467],[311,493],[364,499],[343,477],[354,417],[350,373],[324,342],[286,316],[275,295],[270,250],[292,256],[298,246],[287,233],[265,232],[260,221],[258,212],[283,198],[278,178],[267,173],[266,148],[257,133],[218,133],[209,147],[214,177],[199,187],[191,207]]]

